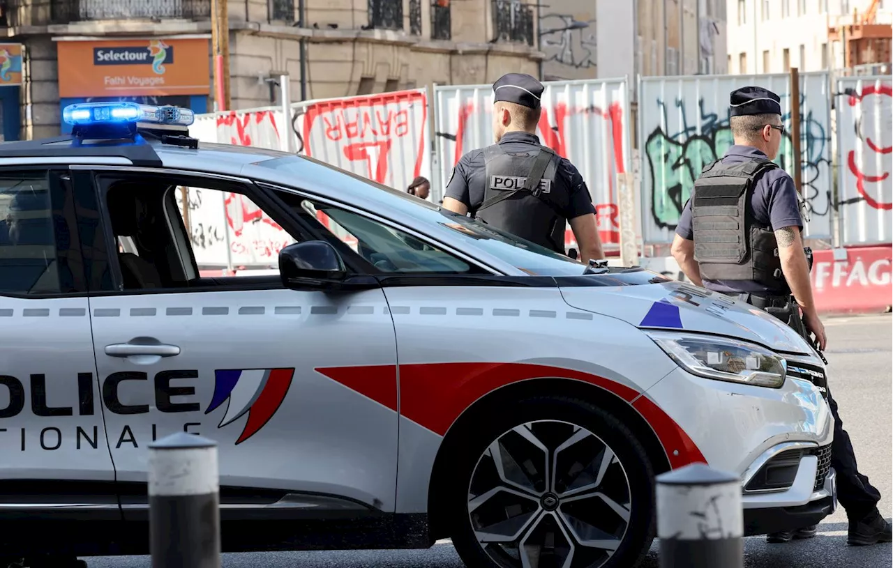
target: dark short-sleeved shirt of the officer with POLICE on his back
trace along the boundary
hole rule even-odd
[[[499,141],[506,152],[530,151],[538,147],[539,137],[526,132],[507,132]],[[484,202],[486,193],[486,174],[484,151],[472,150],[466,153],[453,169],[453,176],[447,184],[447,197],[463,202],[469,211],[475,213]],[[596,212],[592,204],[592,196],[580,171],[566,158],[558,164],[555,186],[558,191],[547,195],[555,208],[562,212],[564,218],[572,219],[580,215]]]

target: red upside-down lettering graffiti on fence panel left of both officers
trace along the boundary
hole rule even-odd
[[[421,111],[418,124],[412,114],[416,108]],[[314,103],[307,107],[304,119],[305,151],[308,156],[313,156],[326,152],[324,147],[315,145],[320,142],[346,143],[339,146],[338,151],[343,152],[349,161],[365,161],[368,177],[384,184],[394,140],[418,136],[413,177],[419,176],[425,154],[427,113],[428,99],[421,91],[397,91]],[[313,132],[320,128],[324,139],[314,139]],[[416,128],[417,132],[414,131]]]

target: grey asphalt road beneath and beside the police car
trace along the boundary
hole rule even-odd
[[[855,446],[862,473],[880,490],[880,512],[893,520],[893,449],[884,426],[893,416],[893,316],[839,317],[825,321],[830,388]],[[658,568],[658,543],[642,568]],[[890,565],[893,543],[847,547],[842,508],[825,519],[814,539],[769,545],[746,539],[747,568],[861,568]],[[147,556],[88,558],[89,568],[149,568]],[[224,568],[463,568],[448,541],[428,550],[296,552],[224,555]]]

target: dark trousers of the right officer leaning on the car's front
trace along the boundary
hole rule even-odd
[[[778,309],[781,303],[779,299],[766,301],[751,294],[740,294],[739,298],[778,317],[785,324],[797,330],[797,333],[803,335],[807,342],[810,341],[803,320],[800,318],[799,307],[796,304],[792,310],[785,312]],[[830,385],[828,385],[828,406],[831,409],[831,416],[834,416],[831,467],[837,473],[838,500],[840,506],[847,511],[847,517],[851,521],[858,521],[869,514],[878,512],[877,504],[880,501],[880,491],[868,481],[866,475],[859,473],[859,467],[855,462],[855,450],[849,440],[849,434],[843,429],[843,421],[840,420],[838,414],[837,401],[831,396]]]

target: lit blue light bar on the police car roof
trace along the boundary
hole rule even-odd
[[[196,115],[176,106],[138,103],[77,103],[63,109],[63,120],[71,126],[127,125],[133,123],[188,127]]]

